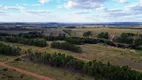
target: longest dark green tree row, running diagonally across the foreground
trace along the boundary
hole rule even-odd
[[[114,66],[109,62],[103,64],[96,60],[86,62],[61,53],[49,54],[31,51],[28,53],[30,60],[34,62],[71,69],[79,73],[99,77],[101,80],[142,80],[142,73],[131,70],[128,66]]]

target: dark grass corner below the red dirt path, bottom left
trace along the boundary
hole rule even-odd
[[[0,80],[39,80],[4,67],[0,67]]]

